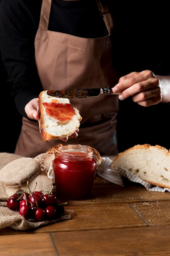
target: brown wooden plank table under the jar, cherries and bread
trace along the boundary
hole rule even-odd
[[[96,175],[91,196],[70,200],[70,220],[31,231],[0,230],[0,256],[168,256],[170,193],[124,187]]]

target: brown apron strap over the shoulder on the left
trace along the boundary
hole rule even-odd
[[[49,17],[52,0],[42,0],[39,28],[47,30],[49,27]]]

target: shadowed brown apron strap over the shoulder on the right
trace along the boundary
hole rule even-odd
[[[106,4],[101,4],[100,0],[96,0],[96,2],[99,7],[99,11],[103,17],[106,28],[108,30],[108,34],[110,35],[113,30],[113,20],[108,9],[108,6]]]

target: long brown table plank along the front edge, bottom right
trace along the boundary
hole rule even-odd
[[[60,256],[168,256],[170,226],[52,233]]]

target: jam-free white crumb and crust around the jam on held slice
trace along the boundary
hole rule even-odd
[[[43,141],[68,137],[79,128],[82,117],[79,110],[73,107],[75,115],[70,121],[61,122],[54,117],[50,117],[43,105],[44,102],[70,103],[69,99],[55,98],[47,95],[47,90],[39,94],[39,113],[40,113],[40,134]]]

